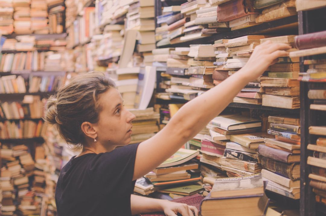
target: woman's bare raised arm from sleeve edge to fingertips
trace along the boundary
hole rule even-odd
[[[228,106],[248,82],[276,63],[278,57],[288,55],[284,50],[290,48],[287,44],[272,44],[266,41],[255,48],[242,69],[182,106],[161,131],[139,145],[133,179],[155,169],[192,139]]]

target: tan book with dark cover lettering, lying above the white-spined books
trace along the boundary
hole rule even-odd
[[[230,141],[238,143],[248,148],[258,148],[260,144],[264,144],[266,138],[274,138],[273,135],[264,132],[233,134]]]

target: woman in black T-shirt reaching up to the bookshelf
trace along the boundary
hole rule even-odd
[[[248,82],[287,55],[287,49],[287,44],[270,41],[257,46],[244,68],[186,103],[155,136],[134,145],[127,144],[135,116],[124,108],[114,83],[96,72],[72,79],[48,100],[45,114],[68,143],[82,148],[60,172],[55,191],[58,215],[163,211],[168,216],[189,216],[194,211],[197,216],[193,206],[132,195],[135,180],[194,137]]]

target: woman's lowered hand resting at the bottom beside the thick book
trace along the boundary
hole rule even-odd
[[[162,209],[166,216],[177,216],[177,213],[180,213],[182,216],[198,216],[198,209],[194,206],[188,206],[183,203],[174,203],[167,200],[162,202]]]

